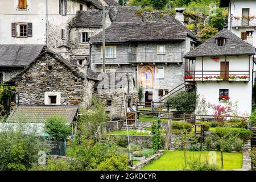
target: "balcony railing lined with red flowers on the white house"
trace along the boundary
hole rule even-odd
[[[250,81],[250,71],[186,71],[185,81]]]

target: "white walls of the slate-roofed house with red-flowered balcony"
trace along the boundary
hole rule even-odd
[[[210,72],[210,71],[220,71],[221,61],[225,61],[225,57],[219,57],[218,61],[210,59],[210,57],[204,57],[203,60],[203,77],[206,76],[218,76],[220,72]],[[202,58],[196,57],[195,70],[197,72],[199,80],[196,81],[197,94],[200,97],[205,98],[205,101],[210,104],[223,105],[225,106],[226,101],[219,101],[218,97],[220,94],[220,89],[228,89],[229,91],[229,102],[235,104],[237,102],[237,112],[238,115],[251,114],[252,105],[252,57],[250,56],[227,56],[226,61],[229,61],[229,75],[247,75],[247,79],[237,79],[233,81],[214,81],[214,78],[210,79],[204,78],[204,82],[201,80],[201,70],[202,70]],[[250,68],[249,68],[250,65]],[[209,71],[209,72],[205,72]],[[242,72],[237,72],[242,71]],[[250,75],[249,75],[250,73]],[[197,77],[197,76],[195,76]],[[246,82],[245,82],[246,80]],[[213,111],[208,111],[209,115],[212,115]]]

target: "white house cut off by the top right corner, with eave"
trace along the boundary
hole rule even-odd
[[[228,30],[256,46],[256,1],[220,0],[220,7],[228,7]]]

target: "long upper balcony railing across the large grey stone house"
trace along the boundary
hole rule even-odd
[[[92,63],[102,64],[102,55],[92,55]],[[183,63],[183,52],[138,52],[106,55],[105,64],[129,63]]]

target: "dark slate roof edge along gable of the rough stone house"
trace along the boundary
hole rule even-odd
[[[46,54],[49,54],[53,57],[53,59],[55,60],[59,60],[61,63],[63,63],[68,69],[70,69],[77,77],[80,77],[80,78],[88,78],[90,80],[94,80],[94,81],[97,81],[97,77],[94,77],[94,74],[93,74],[93,71],[89,71],[88,72],[88,75],[85,76],[84,74],[82,74],[79,69],[77,68],[77,65],[73,65],[71,63],[69,63],[67,60],[65,60],[61,55],[55,53],[55,52],[52,52],[52,51],[49,51],[49,50],[46,50],[45,52],[41,53],[38,57],[36,57],[36,59],[34,61],[32,61],[30,63],[30,65],[28,65],[28,67],[26,67],[26,69],[24,69],[22,72],[20,72],[18,75],[14,76],[13,78],[11,78],[9,81],[5,82],[5,84],[10,84],[10,83],[13,83],[15,82],[15,80],[19,77],[19,76],[22,76],[24,73],[26,73],[28,71],[28,69],[30,69],[30,67],[35,64],[38,60],[40,60],[44,55]]]

